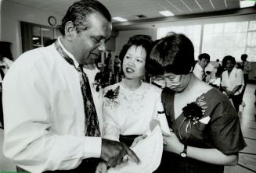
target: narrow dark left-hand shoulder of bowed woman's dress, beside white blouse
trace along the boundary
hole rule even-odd
[[[165,115],[168,120],[169,126],[171,126],[171,117],[174,116],[173,115],[174,114],[174,110],[173,110],[174,98],[175,98],[175,91],[168,88],[164,88],[161,94],[161,101],[164,106],[164,111],[165,111]]]

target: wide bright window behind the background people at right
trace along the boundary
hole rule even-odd
[[[211,61],[222,61],[225,55],[232,55],[240,62],[240,56],[256,62],[256,21],[211,23],[191,26],[171,26],[157,30],[157,38],[170,31],[186,34],[195,47],[195,58],[201,53],[211,55]]]

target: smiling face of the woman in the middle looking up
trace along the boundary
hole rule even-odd
[[[132,45],[124,55],[123,71],[125,78],[137,79],[145,73],[146,50]]]

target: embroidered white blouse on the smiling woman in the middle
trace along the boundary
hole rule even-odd
[[[120,87],[117,98],[103,98],[103,137],[119,140],[120,135],[142,135],[150,129],[150,122],[157,118],[157,111],[164,111],[160,88],[142,83],[136,90],[130,90],[123,83],[116,83],[104,89]]]

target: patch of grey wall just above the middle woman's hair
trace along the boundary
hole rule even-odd
[[[120,31],[118,37],[116,38],[116,50],[112,53],[112,55],[119,55],[121,48],[123,48],[123,45],[127,43],[129,37],[136,34],[150,35],[153,41],[157,39],[157,29]]]

